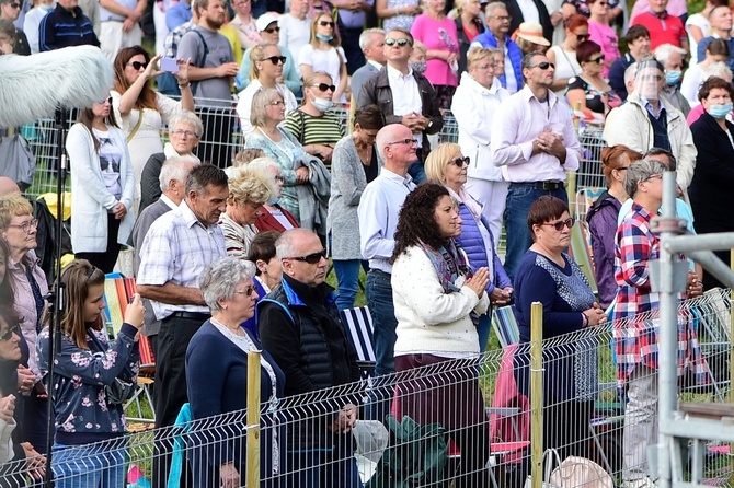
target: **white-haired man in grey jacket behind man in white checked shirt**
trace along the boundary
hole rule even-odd
[[[140,249],[142,248],[142,243],[150,225],[163,213],[179,208],[179,205],[181,205],[186,195],[186,177],[198,165],[198,161],[191,158],[171,158],[163,163],[159,178],[161,197],[140,212],[138,219],[135,221],[133,235],[130,236],[130,244],[135,247],[136,276],[140,268]],[[153,356],[158,357],[158,333],[161,329],[161,322],[156,318],[156,313],[150,301],[144,300],[142,304],[146,307],[142,335],[148,337]]]

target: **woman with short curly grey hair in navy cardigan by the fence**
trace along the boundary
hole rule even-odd
[[[239,487],[244,485],[246,442],[244,430],[232,437],[228,425],[245,422],[248,407],[249,352],[261,351],[260,398],[265,405],[277,405],[284,396],[285,376],[263,350],[257,339],[244,327],[243,322],[255,314],[259,299],[252,278],[255,266],[231,256],[213,263],[202,278],[202,294],[211,310],[206,321],[192,337],[186,349],[186,383],[188,402],[194,420],[232,413],[225,427],[202,423],[197,433],[194,422],[191,440],[191,467],[196,488]],[[206,380],[203,380],[206,379]],[[274,473],[283,473],[285,461],[282,449],[284,435],[273,427],[274,414],[261,417],[263,430],[260,446],[262,486],[272,486]]]

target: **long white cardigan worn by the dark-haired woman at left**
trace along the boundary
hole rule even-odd
[[[119,201],[127,213],[119,223],[117,242],[126,244],[133,233],[135,217],[135,174],[127,150],[127,140],[121,129],[107,126],[110,138],[123,150],[119,162]],[[94,150],[92,135],[82,124],[74,124],[67,136],[66,150],[71,169],[71,246],[74,253],[103,253],[107,249],[107,212],[117,199],[107,191],[102,178],[100,155]]]

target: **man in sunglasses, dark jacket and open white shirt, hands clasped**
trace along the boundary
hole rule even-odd
[[[413,36],[402,28],[393,28],[385,37],[387,66],[363,85],[357,108],[376,104],[386,124],[402,124],[413,133],[418,147],[417,161],[409,170],[415,183],[426,179],[423,161],[431,152],[428,136],[438,133],[444,118],[438,108],[438,96],[423,74],[409,67],[413,53]]]

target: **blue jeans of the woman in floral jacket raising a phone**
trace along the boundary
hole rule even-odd
[[[54,444],[56,488],[124,488],[127,441],[119,438],[89,445]]]

